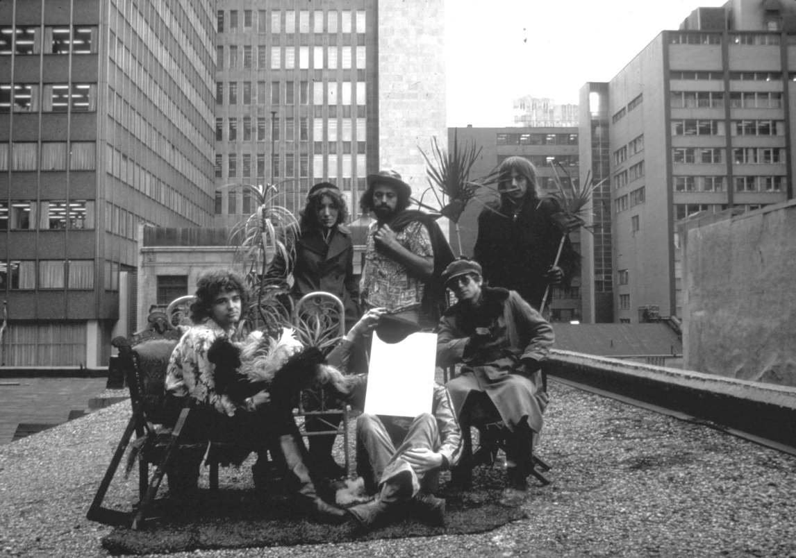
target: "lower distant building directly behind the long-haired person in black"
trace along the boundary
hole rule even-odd
[[[580,177],[578,161],[578,129],[574,127],[511,127],[511,128],[451,128],[448,130],[448,143],[453,145],[474,145],[480,148],[478,160],[470,170],[470,180],[487,176],[507,157],[525,157],[537,169],[537,180],[544,193],[557,192],[556,173],[560,180],[578,181]],[[556,162],[556,170],[552,163]],[[477,199],[467,204],[458,219],[458,227],[451,226],[451,246],[455,253],[473,255],[475,240],[478,238],[478,214],[485,210],[485,203],[497,203],[494,185],[482,188]],[[569,235],[572,247],[581,253],[581,242],[587,231],[576,231]],[[581,265],[583,269],[583,265]],[[582,320],[581,273],[572,277],[567,287],[556,287],[548,296],[548,308],[552,321],[569,322]],[[500,286],[500,285],[496,285]],[[537,306],[539,300],[533,304]]]

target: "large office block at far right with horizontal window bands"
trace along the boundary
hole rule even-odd
[[[793,197],[794,79],[793,2],[732,0],[588,84],[610,119],[616,320],[681,315],[681,219]]]

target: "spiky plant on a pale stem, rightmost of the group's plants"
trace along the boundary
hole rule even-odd
[[[553,261],[553,266],[558,265],[561,258],[561,250],[564,249],[564,242],[566,241],[569,233],[577,231],[583,227],[591,232],[591,227],[586,224],[586,219],[590,214],[589,203],[591,196],[594,194],[596,188],[599,188],[607,179],[600,180],[597,184],[593,184],[591,180],[591,169],[587,171],[586,178],[583,184],[578,184],[576,180],[572,180],[572,176],[564,166],[558,161],[551,161],[553,172],[553,181],[556,184],[556,191],[548,193],[548,196],[555,198],[560,207],[560,211],[552,215],[552,219],[561,231],[561,240],[558,243],[558,251],[556,252],[556,259]],[[556,168],[557,167],[557,168]],[[562,180],[559,170],[564,174],[565,180]],[[544,296],[542,297],[541,304],[539,305],[539,312],[544,312],[544,304],[547,302],[550,293],[550,285],[544,289]]]

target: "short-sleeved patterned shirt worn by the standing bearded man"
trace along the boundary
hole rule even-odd
[[[391,312],[419,308],[425,283],[418,277],[413,277],[404,264],[377,250],[374,235],[378,228],[378,223],[371,223],[368,229],[365,265],[360,284],[362,300],[371,308],[387,308]],[[434,256],[431,237],[419,221],[409,223],[396,233],[396,239],[412,254],[432,258]]]

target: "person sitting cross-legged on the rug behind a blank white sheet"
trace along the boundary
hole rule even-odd
[[[384,308],[371,308],[335,347],[327,362],[343,368],[354,343],[373,331]],[[365,387],[365,383],[361,384]],[[364,397],[358,401],[364,402]],[[357,405],[357,401],[353,402]],[[458,462],[461,430],[444,386],[435,384],[431,413],[418,417],[386,417],[363,413],[357,418],[357,474],[365,481],[371,502],[348,511],[362,529],[389,520],[400,505],[423,521],[443,525],[445,500],[436,498],[439,471]]]

